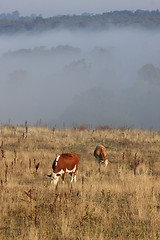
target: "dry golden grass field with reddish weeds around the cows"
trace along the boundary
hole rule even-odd
[[[77,183],[55,187],[47,174],[64,152],[80,156]],[[160,133],[2,126],[0,239],[160,239]]]

